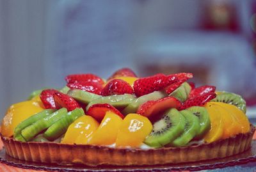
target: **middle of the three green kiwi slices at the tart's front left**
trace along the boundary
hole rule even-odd
[[[24,137],[26,141],[30,141],[38,133],[49,128],[53,123],[63,118],[63,116],[65,116],[67,113],[68,113],[67,109],[63,107],[58,111],[52,114],[49,114],[45,118],[35,121],[33,124],[29,125],[28,127],[26,127],[21,131],[22,137]]]

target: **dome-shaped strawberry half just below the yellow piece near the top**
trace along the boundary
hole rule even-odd
[[[113,79],[109,81],[101,91],[102,96],[124,95],[125,93],[132,94],[133,90],[130,84],[122,79]]]

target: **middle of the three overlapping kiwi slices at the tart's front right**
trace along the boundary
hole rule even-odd
[[[183,110],[180,113],[185,117],[186,125],[184,132],[172,143],[168,144],[174,147],[186,146],[200,130],[199,119],[191,111]]]

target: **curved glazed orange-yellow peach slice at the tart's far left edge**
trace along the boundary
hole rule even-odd
[[[42,104],[33,100],[13,104],[3,118],[1,134],[6,137],[13,136],[14,129],[20,122],[43,110]]]

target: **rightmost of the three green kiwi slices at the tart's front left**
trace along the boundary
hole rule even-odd
[[[84,115],[84,111],[82,108],[77,108],[77,109],[74,109],[73,111],[68,112],[66,116],[56,121],[56,123],[52,124],[51,127],[49,127],[44,132],[44,137],[49,141],[54,141],[55,139],[58,139],[58,137],[60,137],[62,134],[64,134],[67,131],[68,126],[73,121],[75,121],[77,118],[83,115]]]

